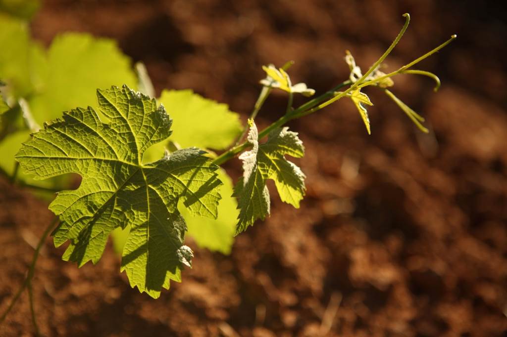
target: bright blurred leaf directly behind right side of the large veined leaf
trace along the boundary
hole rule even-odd
[[[174,120],[170,139],[180,146],[194,144],[202,148],[224,149],[234,142],[241,132],[238,114],[229,111],[226,104],[207,100],[191,90],[163,91],[159,102]],[[166,147],[167,143],[152,146],[144,154],[144,161],[160,157]],[[238,216],[237,201],[232,196],[231,179],[223,171],[220,171],[220,179],[224,186],[217,219],[187,217],[183,209],[182,214],[187,219],[189,235],[200,247],[229,254],[234,241],[235,219]],[[120,244],[121,242],[115,243]]]

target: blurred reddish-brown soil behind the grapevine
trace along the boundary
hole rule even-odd
[[[498,2],[499,4],[501,2]],[[400,77],[393,91],[427,117],[423,135],[370,90],[372,136],[349,102],[295,121],[307,154],[301,209],[237,237],[230,256],[195,249],[194,268],[158,300],[131,289],[107,247],[96,265],[60,260],[48,239],[34,278],[49,336],[507,335],[507,24],[493,2],[47,1],[33,22],[119,40],[156,89],[193,88],[245,117],[261,65],[295,60],[294,80],[322,92],[347,77],[349,49],[371,64],[410,12],[387,63],[394,69],[459,38],[420,67],[443,80]],[[283,111],[273,95],[260,114]],[[228,165],[235,177],[238,161]],[[0,309],[52,216],[47,203],[0,182]],[[273,193],[273,195],[276,195]],[[2,336],[31,335],[26,294]]]

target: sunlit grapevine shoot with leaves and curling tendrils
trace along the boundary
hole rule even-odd
[[[306,177],[286,156],[303,157],[304,146],[297,133],[284,127],[288,121],[347,97],[370,133],[366,106],[372,102],[363,89],[371,86],[383,91],[420,130],[427,132],[422,125],[424,119],[388,88],[394,85],[393,76],[409,73],[434,79],[438,89],[440,80],[436,75],[413,66],[456,36],[407,65],[384,73],[380,70],[382,62],[408,27],[409,15],[405,18],[405,25],[391,46],[365,73],[347,52],[349,78],[297,108],[293,107],[294,94],[309,97],[315,91],[305,83],[292,84],[286,72],[291,63],[278,69],[264,66],[266,78],[261,80],[260,96],[239,138],[238,119],[227,106],[190,91],[164,91],[156,100],[142,69],[138,73],[138,88],[143,93],[128,85],[98,89],[98,104],[89,103],[96,108],[70,109],[61,118],[45,122],[40,130],[32,127],[29,140],[20,145],[15,155],[23,174],[35,180],[68,173],[82,177],[79,188],[58,192],[49,206],[59,222],[52,232],[55,245],[68,241],[63,260],[76,262],[78,266],[88,261],[95,264],[103,254],[108,236],[124,230],[119,245],[121,271],[126,272],[132,287],[158,298],[162,288],[169,288],[171,280],[181,281],[183,266],[192,266],[193,252],[185,245],[187,223],[192,224],[190,232],[197,243],[228,252],[232,239],[227,237],[232,238],[234,232],[239,234],[269,215],[267,180],[274,181],[282,201],[299,208],[305,195]],[[287,92],[287,109],[282,117],[259,132],[254,119],[272,90]],[[35,111],[40,111],[40,106],[49,109],[51,97],[48,93],[35,95],[27,105],[36,107]],[[0,100],[0,114],[12,110],[7,103]],[[25,121],[32,119],[29,108],[17,102],[15,105],[20,106]],[[241,142],[244,136],[246,140]],[[229,147],[234,140],[236,144]],[[209,148],[226,151],[216,156],[206,151]],[[238,155],[243,176],[232,190],[220,165]],[[231,211],[236,205],[238,210]],[[208,220],[204,218],[216,221],[213,219],[220,218],[222,210],[229,218],[222,221],[234,222],[235,229],[227,225],[206,228]],[[207,233],[205,238],[203,232]],[[221,248],[224,244],[216,242],[224,237],[226,248]],[[37,254],[34,262],[36,259]],[[29,273],[28,285],[32,276],[33,272]]]

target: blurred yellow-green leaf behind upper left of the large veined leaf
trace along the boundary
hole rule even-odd
[[[41,63],[37,63],[39,68]],[[96,88],[123,84],[133,87],[136,83],[130,59],[121,53],[116,42],[89,34],[57,36],[44,66],[38,94],[29,100],[32,114],[41,124],[58,117],[61,111],[93,106]]]

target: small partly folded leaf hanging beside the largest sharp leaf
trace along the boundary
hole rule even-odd
[[[304,146],[298,134],[288,131],[286,127],[277,129],[268,135],[266,143],[259,144],[257,127],[252,120],[248,122],[250,130],[247,141],[252,149],[239,156],[243,161],[243,177],[234,188],[240,209],[236,233],[269,215],[268,179],[274,180],[280,199],[296,208],[299,208],[299,202],[305,195],[305,175],[297,165],[284,157],[290,155],[300,158],[304,155]]]

